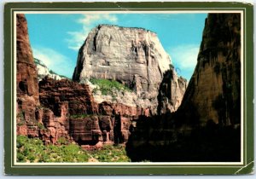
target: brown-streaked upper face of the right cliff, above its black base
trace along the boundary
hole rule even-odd
[[[240,34],[240,14],[208,14],[195,72],[180,107],[187,118],[198,118],[190,123],[241,123]]]

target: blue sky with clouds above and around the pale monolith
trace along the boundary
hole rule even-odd
[[[191,77],[207,14],[26,14],[33,55],[72,78],[79,47],[98,24],[143,27],[158,34],[177,73]]]

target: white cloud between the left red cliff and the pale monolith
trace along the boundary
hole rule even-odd
[[[74,65],[67,56],[45,47],[32,48],[32,52],[33,56],[43,61],[50,70],[68,78],[72,77]]]

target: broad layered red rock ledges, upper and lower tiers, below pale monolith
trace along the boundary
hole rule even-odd
[[[125,142],[130,136],[131,124],[136,123],[140,115],[150,115],[149,109],[141,107],[108,101],[96,103],[88,85],[68,79],[45,77],[39,82],[39,95],[40,103],[49,107],[53,120],[60,121],[59,118],[65,117],[65,129],[74,141],[83,146],[98,142]],[[44,123],[45,120],[48,121],[44,118]]]

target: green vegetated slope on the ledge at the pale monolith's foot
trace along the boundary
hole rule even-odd
[[[102,95],[112,95],[113,90],[119,90],[119,91],[131,91],[125,84],[120,84],[119,82],[115,80],[108,80],[108,79],[96,79],[96,78],[91,78],[90,82],[92,84],[96,84],[99,86],[99,89],[96,90],[101,90]]]

